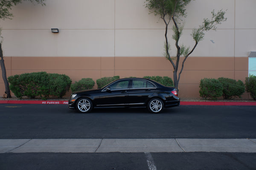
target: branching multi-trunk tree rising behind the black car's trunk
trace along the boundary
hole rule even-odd
[[[222,9],[215,12],[211,12],[212,17],[210,19],[204,18],[203,23],[192,30],[191,36],[195,41],[193,48],[180,45],[180,36],[182,35],[184,23],[182,18],[187,16],[186,6],[190,3],[191,0],[145,0],[145,7],[149,9],[150,13],[153,13],[155,16],[160,17],[165,23],[165,44],[164,44],[164,55],[172,63],[173,67],[173,81],[177,91],[179,90],[178,85],[180,81],[180,74],[183,71],[184,63],[190,54],[195,50],[198,45],[198,42],[204,39],[206,31],[216,30],[216,25],[221,24],[223,21],[226,21],[227,18],[224,17],[226,11]],[[169,25],[172,23],[172,39],[175,40],[175,47],[177,48],[176,56],[170,55],[170,44],[167,37],[167,32]],[[182,65],[179,69],[180,56],[183,56]]]

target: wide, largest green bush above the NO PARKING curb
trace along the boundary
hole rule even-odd
[[[25,73],[8,77],[11,91],[18,98],[27,96],[35,98],[49,96],[62,98],[69,90],[71,79],[64,74],[47,74],[46,72]]]

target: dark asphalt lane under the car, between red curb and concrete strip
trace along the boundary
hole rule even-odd
[[[256,106],[95,109],[1,104],[0,139],[256,139]]]

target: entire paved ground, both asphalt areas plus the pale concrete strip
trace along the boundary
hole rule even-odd
[[[0,169],[253,170],[255,106],[0,105]],[[82,152],[82,153],[81,153]]]

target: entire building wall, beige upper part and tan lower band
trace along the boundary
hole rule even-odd
[[[7,76],[47,71],[66,74],[73,82],[114,75],[172,77],[172,65],[163,57],[165,25],[148,14],[144,1],[47,0],[46,6],[15,6],[13,20],[0,21]],[[228,20],[208,31],[187,59],[180,97],[199,97],[199,81],[205,77],[244,81],[248,54],[256,51],[255,6],[255,0],[191,1],[180,45],[193,47],[192,29],[211,17],[212,9],[227,9]],[[51,28],[60,32],[53,34]],[[171,29],[168,36],[175,56]],[[0,79],[0,96],[4,89]]]

